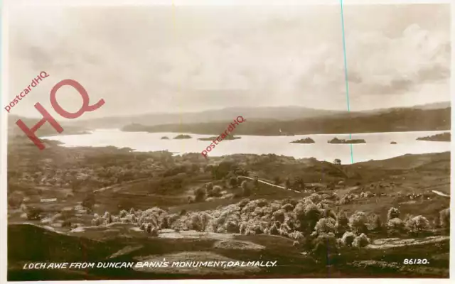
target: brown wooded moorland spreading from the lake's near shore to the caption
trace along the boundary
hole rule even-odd
[[[449,277],[450,153],[337,165],[10,145],[9,280]],[[277,266],[23,269],[163,258]]]

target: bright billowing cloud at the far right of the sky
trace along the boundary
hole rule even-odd
[[[403,94],[450,77],[449,38],[415,23],[397,38],[353,33],[347,44],[349,81],[356,92]]]

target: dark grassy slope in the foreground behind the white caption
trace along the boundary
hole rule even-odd
[[[31,243],[23,237],[23,233],[33,234],[36,241]],[[95,236],[94,236],[95,237]],[[210,251],[220,256],[235,259],[237,261],[277,261],[274,268],[262,268],[259,273],[242,275],[242,278],[349,278],[349,277],[431,277],[440,278],[448,276],[449,267],[449,241],[434,246],[431,251],[428,246],[412,246],[388,250],[356,250],[346,249],[338,256],[331,258],[331,266],[318,263],[310,256],[301,254],[299,249],[292,246],[292,241],[280,236],[257,235],[257,236],[234,236],[235,239],[251,241],[264,246],[262,251],[241,250],[233,248],[214,248],[215,239],[162,239],[156,237],[131,238],[126,231],[122,234],[113,233],[108,239],[91,241],[80,236],[65,236],[35,226],[20,224],[9,226],[9,247],[18,246],[25,248],[24,251],[37,251],[33,256],[30,254],[18,254],[20,250],[9,252],[9,280],[55,280],[55,279],[170,279],[170,278],[200,278],[186,274],[166,274],[151,271],[142,273],[130,269],[90,269],[87,271],[25,271],[20,273],[21,264],[24,261],[102,261],[112,253],[119,251],[125,246],[136,247],[136,250],[121,254],[108,261],[137,261],[144,256],[164,256],[169,253],[183,251]],[[55,249],[48,251],[48,247],[60,244],[63,250]],[[59,246],[59,247],[60,247]],[[426,266],[401,265],[405,258],[427,258]],[[197,261],[197,259],[191,259]],[[367,268],[354,266],[359,261],[378,261],[395,263],[395,267],[386,268],[370,266]],[[444,269],[445,267],[445,269]],[[81,275],[82,274],[82,275]],[[205,275],[203,278],[230,278],[234,276],[219,274]],[[238,277],[238,275],[237,275]]]

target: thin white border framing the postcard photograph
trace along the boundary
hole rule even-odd
[[[1,1],[1,0],[0,0]],[[352,4],[452,4],[451,5],[451,70],[454,70],[455,66],[455,0],[442,0],[442,1],[431,1],[431,0],[347,0],[344,5]],[[346,3],[347,2],[347,3]],[[1,2],[0,2],[1,3]],[[262,6],[262,5],[339,5],[338,0],[4,0],[3,7],[1,9],[1,105],[6,105],[6,95],[8,94],[8,49],[9,46],[7,43],[8,38],[8,10],[11,6],[25,6],[24,9],[30,9],[30,6],[41,6],[41,5],[51,5],[51,6],[123,6],[123,5],[166,5],[166,6],[197,6],[197,5],[215,5],[215,6],[225,6],[225,5],[250,5],[250,6]],[[451,97],[452,101],[455,98],[454,89],[455,79],[453,76],[453,71],[451,71]],[[452,109],[452,133],[454,130],[455,123],[455,113]],[[6,160],[7,160],[7,114],[5,111],[1,111],[0,114],[0,188],[1,188],[1,197],[4,197],[4,206],[1,206],[0,212],[0,224],[1,224],[1,256],[0,256],[0,277],[2,283],[6,283],[6,269],[7,269],[7,249],[6,249],[6,229],[7,226],[7,193],[6,193]],[[451,143],[454,143],[452,141]],[[453,145],[453,144],[452,144]],[[454,149],[455,150],[455,149]],[[454,177],[454,151],[451,151],[451,180]],[[451,182],[451,192],[454,192],[454,183]],[[454,207],[455,200],[451,199],[451,207]],[[454,228],[454,218],[451,219],[451,227]],[[454,239],[451,238],[451,249],[450,249],[450,274],[451,278],[454,278],[454,268],[455,268],[455,256],[454,256]],[[4,277],[4,278],[3,278]],[[84,281],[84,283],[177,283],[183,280],[97,280],[97,281]],[[201,280],[184,280],[185,283],[200,283]],[[303,278],[303,279],[244,279],[244,280],[204,280],[204,283],[248,283],[248,284],[262,284],[262,283],[279,283],[290,284],[290,283],[330,283],[333,281],[344,282],[344,283],[382,283],[385,281],[384,278],[375,278],[375,279],[360,279],[360,278],[344,278],[344,279],[313,279],[313,278]],[[44,281],[45,283],[80,283],[80,281]],[[449,283],[448,279],[418,279],[418,278],[393,278],[387,279],[387,283]],[[31,282],[11,282],[11,283],[31,283]]]

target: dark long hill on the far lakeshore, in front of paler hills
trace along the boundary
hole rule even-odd
[[[200,124],[129,125],[123,131],[219,134],[230,120]],[[247,119],[236,127],[235,135],[280,135],[284,133],[371,133],[393,131],[437,131],[451,129],[451,109],[390,109],[378,113],[351,112],[333,116],[289,121]]]

